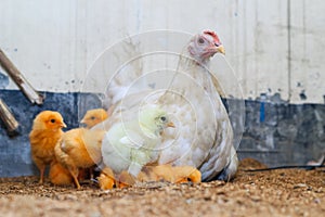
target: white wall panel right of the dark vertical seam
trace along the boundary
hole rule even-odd
[[[325,1],[291,4],[291,102],[325,100]]]

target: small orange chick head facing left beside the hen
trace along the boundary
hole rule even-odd
[[[81,119],[81,124],[84,124],[87,128],[92,128],[96,124],[105,120],[108,118],[108,114],[103,108],[95,108],[95,110],[89,110],[84,114],[83,118]]]

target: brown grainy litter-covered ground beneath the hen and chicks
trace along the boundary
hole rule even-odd
[[[0,216],[324,216],[325,170],[245,171],[231,182],[148,183],[102,191],[95,183],[38,184],[37,177],[0,179]]]

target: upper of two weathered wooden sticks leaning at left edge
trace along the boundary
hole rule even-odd
[[[0,49],[0,64],[5,69],[11,79],[18,86],[31,103],[42,104],[44,97],[38,93],[31,85],[26,80],[22,73],[14,66],[14,64],[6,58],[4,52]]]

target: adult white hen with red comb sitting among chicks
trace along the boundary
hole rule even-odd
[[[110,107],[110,118],[98,127],[109,129],[121,118],[132,119],[146,99],[145,103],[157,104],[173,114],[177,124],[178,130],[166,130],[162,135],[159,164],[194,166],[202,171],[205,181],[233,178],[238,165],[233,130],[218,93],[220,87],[216,87],[214,78],[206,69],[210,58],[218,52],[224,53],[224,49],[216,33],[206,30],[195,35],[180,56],[168,91],[150,99],[150,90],[129,94],[120,101],[115,98],[117,103]],[[130,84],[115,85],[128,87]]]

